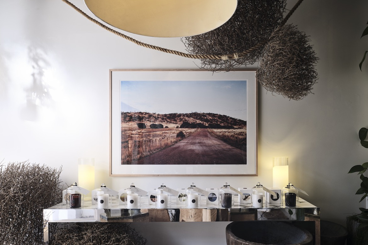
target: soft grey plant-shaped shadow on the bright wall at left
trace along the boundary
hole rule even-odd
[[[45,51],[37,47],[28,47],[28,58],[32,65],[32,85],[25,89],[26,106],[22,109],[22,117],[27,121],[37,121],[40,107],[53,104],[50,87],[45,81],[45,71],[50,63]]]

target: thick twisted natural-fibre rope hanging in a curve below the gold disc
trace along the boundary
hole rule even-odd
[[[77,10],[77,12],[79,12],[81,15],[83,15],[84,17],[86,17],[90,21],[94,22],[95,24],[99,25],[103,29],[108,30],[109,32],[112,32],[115,35],[118,35],[120,37],[123,37],[124,39],[127,39],[128,41],[130,41],[132,43],[135,43],[135,44],[137,44],[139,46],[142,46],[142,47],[151,48],[151,49],[154,49],[154,50],[162,51],[164,53],[175,54],[175,55],[179,55],[179,56],[186,57],[186,58],[208,59],[208,60],[233,60],[233,59],[244,57],[247,54],[250,54],[252,51],[257,50],[258,48],[265,45],[269,40],[269,39],[263,40],[262,42],[259,42],[258,44],[256,44],[255,46],[249,48],[248,50],[245,50],[245,51],[240,52],[240,53],[223,54],[223,55],[188,54],[188,53],[183,53],[183,52],[176,51],[176,50],[171,50],[171,49],[162,48],[162,47],[154,46],[154,45],[151,45],[151,44],[139,42],[138,40],[135,40],[134,38],[132,38],[130,36],[124,35],[123,33],[117,32],[116,30],[114,30],[112,28],[109,28],[108,26],[102,24],[101,22],[93,19],[88,14],[86,14],[81,9],[79,9],[77,6],[72,4],[70,1],[68,1],[68,0],[62,0],[62,1],[67,3],[69,6],[71,6],[75,10]],[[280,26],[273,33],[276,33],[277,31],[279,31],[279,29],[286,24],[287,20],[291,17],[291,15],[294,13],[294,11],[299,7],[299,5],[301,4],[302,1],[303,0],[298,0],[298,2],[294,5],[294,7],[289,11],[289,13],[286,15],[286,17],[280,23]]]

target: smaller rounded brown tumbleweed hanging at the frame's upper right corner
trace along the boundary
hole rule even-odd
[[[268,91],[290,100],[301,100],[312,93],[318,78],[318,58],[308,36],[296,26],[285,25],[275,32],[259,61],[258,82]]]

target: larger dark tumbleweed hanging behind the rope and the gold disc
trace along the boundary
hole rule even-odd
[[[191,54],[233,54],[248,50],[267,40],[283,19],[286,0],[239,0],[237,9],[224,25],[197,36],[182,39]],[[201,59],[201,68],[229,71],[240,65],[254,64],[263,47],[242,58],[229,60]]]

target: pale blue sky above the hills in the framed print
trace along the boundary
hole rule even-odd
[[[121,81],[121,111],[212,112],[247,120],[246,81]]]

